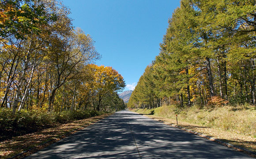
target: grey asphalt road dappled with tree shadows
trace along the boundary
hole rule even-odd
[[[119,111],[26,159],[248,159],[232,148]]]

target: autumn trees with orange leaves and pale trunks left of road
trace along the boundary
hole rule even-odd
[[[92,64],[101,55],[58,0],[0,1],[0,107],[113,111],[123,77]]]

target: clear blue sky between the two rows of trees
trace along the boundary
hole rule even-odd
[[[168,19],[180,0],[63,0],[73,25],[90,34],[102,55],[97,65],[111,66],[132,90],[159,54]]]

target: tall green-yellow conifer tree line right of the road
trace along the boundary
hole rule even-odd
[[[128,107],[256,104],[256,1],[181,0]]]

